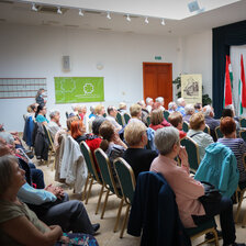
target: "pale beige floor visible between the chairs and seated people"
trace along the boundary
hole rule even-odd
[[[45,177],[45,183],[56,183],[58,186],[64,187],[65,191],[68,192],[70,199],[78,199],[81,200],[81,195],[77,195],[72,193],[72,189],[69,189],[66,185],[57,183],[54,182],[54,175],[55,171],[52,171],[52,164],[47,167],[44,164],[36,164],[37,168],[42,169],[44,171],[44,177]],[[120,226],[116,233],[113,233],[113,227],[114,227],[114,222],[118,213],[118,206],[120,204],[120,200],[115,195],[110,195],[107,210],[104,213],[104,217],[101,220],[101,210],[99,210],[98,214],[94,214],[96,212],[96,206],[97,206],[97,201],[98,201],[98,194],[100,191],[100,186],[99,185],[93,185],[92,190],[91,190],[91,197],[88,201],[88,204],[86,204],[86,209],[88,211],[88,214],[91,219],[92,223],[100,223],[101,227],[99,230],[99,234],[96,236],[98,243],[100,246],[136,246],[139,245],[141,239],[137,237],[133,237],[126,232],[124,233],[123,238],[120,238],[120,230],[122,226],[123,222],[123,215],[125,208],[122,210],[122,216],[120,220]],[[104,195],[102,197],[104,199]],[[104,200],[102,200],[104,201]],[[235,212],[236,206],[234,205],[234,212]],[[243,209],[242,213],[239,216],[239,223],[236,224],[236,237],[237,242],[239,243],[246,243],[246,228],[242,228],[242,220],[243,220],[243,214],[246,213],[246,199],[243,203]],[[217,224],[220,224],[219,219],[216,217]],[[203,237],[197,238],[195,241],[192,242],[192,245],[198,245],[200,242],[202,242]],[[220,245],[223,245],[223,241],[220,241]]]

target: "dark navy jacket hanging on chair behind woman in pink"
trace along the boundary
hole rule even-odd
[[[191,245],[179,219],[175,193],[160,174],[141,172],[127,233],[141,236],[141,246]]]

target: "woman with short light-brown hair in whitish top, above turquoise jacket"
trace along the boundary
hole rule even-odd
[[[200,160],[205,155],[205,148],[213,143],[212,136],[208,133],[204,133],[205,128],[205,119],[202,113],[195,113],[190,118],[190,130],[187,133],[187,136],[192,138],[199,146]]]

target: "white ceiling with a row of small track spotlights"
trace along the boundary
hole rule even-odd
[[[204,8],[205,1],[210,4]],[[31,10],[32,2],[36,2],[40,11]],[[203,3],[200,0],[200,8],[204,8],[200,13],[190,13],[187,2],[186,0],[0,0],[0,24],[18,23],[101,32],[183,36],[246,20],[246,0],[203,0]],[[226,5],[221,7],[222,2]],[[58,5],[62,7],[63,14],[56,13]],[[52,12],[41,11],[45,7]],[[78,14],[79,8],[83,10],[83,16]],[[107,19],[108,11],[111,12],[111,20]],[[125,19],[126,13],[131,15],[131,22]],[[144,22],[145,16],[148,16],[148,24]],[[166,25],[160,24],[163,18]]]

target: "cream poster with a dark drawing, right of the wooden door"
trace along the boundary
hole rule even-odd
[[[187,103],[202,102],[202,75],[181,75],[181,97]]]

